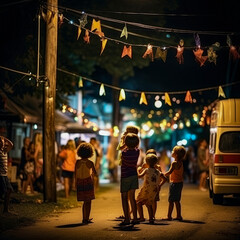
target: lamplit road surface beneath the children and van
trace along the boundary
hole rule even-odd
[[[183,221],[164,221],[168,208],[168,183],[160,194],[156,222],[145,221],[133,228],[121,228],[116,217],[122,215],[119,185],[98,196],[92,202],[91,217],[94,223],[82,225],[81,208],[51,214],[32,226],[1,233],[1,240],[32,239],[214,239],[240,240],[240,201],[225,198],[223,205],[213,205],[208,192],[196,185],[184,184],[182,193]],[[144,208],[145,209],[145,208]],[[145,218],[148,219],[145,209]],[[173,212],[175,216],[175,209]]]

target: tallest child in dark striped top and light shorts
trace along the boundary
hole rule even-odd
[[[133,212],[132,224],[138,224],[137,204],[135,200],[135,190],[138,189],[137,161],[139,157],[139,138],[134,133],[128,133],[125,136],[125,148],[122,150],[121,165],[121,198],[124,213],[124,221],[120,226],[130,224],[128,197]]]

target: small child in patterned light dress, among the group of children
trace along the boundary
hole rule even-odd
[[[156,169],[158,158],[155,154],[147,152],[145,160],[148,168],[145,168],[138,175],[139,177],[144,176],[144,183],[137,197],[137,209],[140,221],[145,221],[142,206],[146,205],[149,214],[149,223],[153,224],[156,213],[157,196],[159,196],[160,188],[166,182],[166,178]]]

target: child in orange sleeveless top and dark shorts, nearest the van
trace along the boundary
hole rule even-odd
[[[168,198],[168,217],[164,220],[172,220],[172,211],[174,203],[177,210],[177,218],[175,220],[182,221],[181,214],[181,193],[183,188],[183,159],[186,155],[186,150],[182,146],[175,146],[172,150],[172,157],[175,159],[170,169],[165,173],[165,176],[170,176],[169,198]]]

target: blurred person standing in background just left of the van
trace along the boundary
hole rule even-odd
[[[208,175],[208,152],[207,152],[207,141],[205,139],[201,140],[197,150],[197,162],[198,170],[200,174],[199,179],[199,190],[207,191],[206,180]]]

